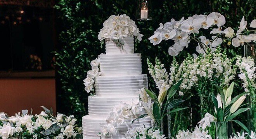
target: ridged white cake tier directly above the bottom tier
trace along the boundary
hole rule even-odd
[[[115,105],[118,105],[121,101],[125,102],[132,100],[133,98],[138,98],[137,96],[131,97],[97,97],[90,96],[88,97],[88,111],[91,117],[95,118],[106,118],[109,116],[111,108],[114,108]],[[145,114],[145,111],[141,111],[139,115]]]

